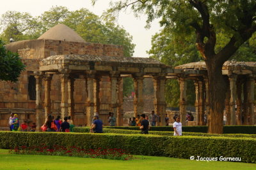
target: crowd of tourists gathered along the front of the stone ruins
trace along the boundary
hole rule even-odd
[[[190,119],[191,117],[189,117]],[[180,123],[179,115],[175,115],[173,117],[175,122],[173,123],[174,129],[174,136],[181,136],[182,135],[182,124]],[[150,129],[150,125],[152,127],[157,125],[160,118],[154,111],[148,116],[145,114],[137,115],[137,117],[129,118],[129,125],[130,126],[138,126],[141,129],[141,134],[148,134],[148,130]],[[164,118],[164,123],[166,126],[169,125],[169,118],[166,114]],[[19,125],[19,118],[17,114],[11,114],[9,118],[8,125],[10,127],[10,131],[28,131],[28,124],[24,121],[21,125]],[[113,112],[109,112],[108,115],[108,125],[115,126],[116,125],[116,117],[114,116]],[[46,132],[73,132],[74,124],[71,117],[64,117],[63,121],[61,120],[60,115],[58,115],[55,119],[52,115],[48,115],[47,119],[45,120],[44,125],[42,125],[42,131]],[[102,133],[103,122],[99,118],[99,113],[95,113],[92,119],[92,125],[90,128],[90,132],[94,133]],[[36,124],[33,123],[31,125],[32,132],[36,131]]]

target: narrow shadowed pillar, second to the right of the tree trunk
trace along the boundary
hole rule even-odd
[[[242,82],[241,80],[236,81],[236,124],[237,125],[242,125]]]

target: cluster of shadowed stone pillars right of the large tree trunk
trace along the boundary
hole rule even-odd
[[[230,89],[227,90],[225,110],[227,125],[254,125],[254,87],[255,77],[248,75],[242,81],[236,74],[228,76]],[[243,94],[243,96],[242,96]]]

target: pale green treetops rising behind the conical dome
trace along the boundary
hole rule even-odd
[[[1,17],[1,38],[8,42],[36,39],[57,24],[65,24],[74,29],[85,41],[124,46],[124,56],[131,57],[135,45],[132,36],[123,27],[115,24],[113,16],[98,17],[89,10],[81,8],[68,11],[67,7],[54,6],[42,15],[32,17],[29,13],[8,11]]]

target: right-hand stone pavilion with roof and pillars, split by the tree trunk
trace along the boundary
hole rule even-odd
[[[175,67],[176,73],[172,78],[177,78],[180,83],[180,114],[182,122],[186,121],[187,82],[195,82],[195,108],[196,125],[205,125],[204,115],[209,113],[209,91],[207,68],[205,62],[193,62]],[[177,73],[179,72],[180,73]],[[254,94],[256,80],[256,62],[227,61],[222,67],[223,77],[228,81],[225,99],[226,125],[254,125]]]

